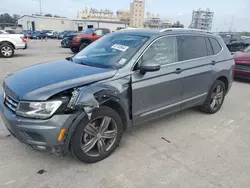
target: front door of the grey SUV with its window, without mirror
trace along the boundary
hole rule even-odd
[[[178,72],[177,37],[158,38],[143,54],[137,67],[147,60],[161,64],[161,69],[145,74],[136,70],[132,74],[132,113],[135,124],[178,111],[181,107],[182,76]]]

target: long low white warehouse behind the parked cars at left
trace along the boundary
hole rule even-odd
[[[54,30],[65,31],[74,30],[82,31],[88,28],[108,28],[111,31],[116,31],[117,28],[126,28],[127,22],[117,20],[101,20],[101,19],[76,19],[55,18],[45,16],[30,16],[24,15],[18,19],[18,24],[22,26],[23,30]]]

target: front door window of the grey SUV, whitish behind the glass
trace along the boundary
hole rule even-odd
[[[178,60],[176,37],[165,37],[155,41],[144,53],[143,61],[153,60],[162,65]]]

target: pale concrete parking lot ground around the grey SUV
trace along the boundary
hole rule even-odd
[[[0,81],[17,69],[72,55],[59,45],[29,41],[27,50],[0,59]],[[249,85],[235,81],[217,114],[190,109],[128,130],[120,147],[95,164],[34,151],[0,120],[0,187],[250,187]]]

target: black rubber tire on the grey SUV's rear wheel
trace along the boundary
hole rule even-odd
[[[218,87],[221,87],[221,92],[223,92],[223,93],[222,93],[222,95],[220,95],[221,96],[220,98],[216,99],[216,97],[214,97],[214,96],[216,95],[215,90]],[[207,96],[205,103],[202,106],[200,106],[200,110],[202,112],[207,113],[207,114],[214,114],[214,113],[218,112],[220,110],[221,106],[223,105],[225,95],[226,95],[226,86],[225,86],[224,82],[222,82],[220,80],[216,80],[208,93],[208,96]],[[213,100],[220,100],[220,102],[218,102],[218,101],[216,102],[217,103],[216,108],[215,108],[215,106],[214,106],[214,108],[212,108]]]

